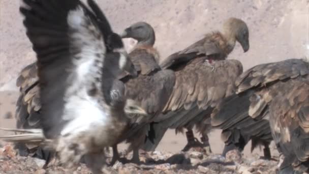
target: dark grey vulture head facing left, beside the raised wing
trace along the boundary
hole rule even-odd
[[[133,38],[138,43],[153,46],[156,41],[154,30],[151,25],[146,22],[137,22],[126,28],[121,34],[122,38]]]

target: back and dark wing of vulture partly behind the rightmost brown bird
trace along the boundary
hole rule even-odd
[[[273,101],[273,98],[277,95],[286,97],[287,92],[292,90],[287,88],[288,86],[283,88],[282,85],[287,84],[293,86],[294,79],[306,78],[308,74],[309,64],[299,59],[261,64],[249,69],[242,73],[236,80],[237,95],[235,94],[225,99],[215,109],[211,119],[212,126],[223,129],[225,132],[223,138],[227,144],[235,143],[229,141],[231,139],[230,137],[235,137],[235,135],[227,133],[228,131],[235,132],[233,131],[235,129],[240,130],[239,133],[248,141],[254,138],[255,140],[264,139],[270,142],[270,128],[268,124],[264,124],[261,127],[253,125],[248,127],[250,129],[246,129],[245,127],[251,125],[251,123],[258,125],[261,121],[268,121],[270,117],[270,106],[272,103],[276,103]],[[281,105],[284,104],[281,103]],[[284,108],[290,109],[290,106],[287,105]],[[272,122],[274,121],[272,120]],[[254,129],[255,127],[258,129]],[[257,136],[256,132],[259,131],[262,134]],[[272,135],[276,143],[278,143],[278,139],[280,138],[274,135],[274,133]]]

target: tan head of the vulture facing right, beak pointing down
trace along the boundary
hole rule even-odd
[[[249,29],[244,21],[231,17],[224,22],[223,27],[229,39],[238,41],[244,52],[249,50]]]

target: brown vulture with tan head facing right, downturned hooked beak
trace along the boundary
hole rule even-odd
[[[233,94],[234,81],[242,73],[242,65],[236,60],[226,60],[236,41],[243,51],[249,50],[249,29],[244,21],[229,18],[224,22],[224,33],[212,32],[186,49],[167,57],[162,69],[175,72],[173,92],[160,114],[150,124],[143,149],[153,151],[167,129],[188,131],[188,144],[183,151],[192,147],[203,147],[211,152],[208,142],[210,114],[222,98]],[[196,126],[202,134],[200,143],[193,135]]]

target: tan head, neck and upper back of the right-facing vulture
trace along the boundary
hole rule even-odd
[[[172,64],[177,65],[194,57],[206,55],[211,60],[225,60],[234,49],[236,41],[240,43],[243,51],[249,50],[249,29],[240,19],[229,18],[224,22],[224,32],[211,32],[186,49],[175,52],[161,63],[164,69]]]

